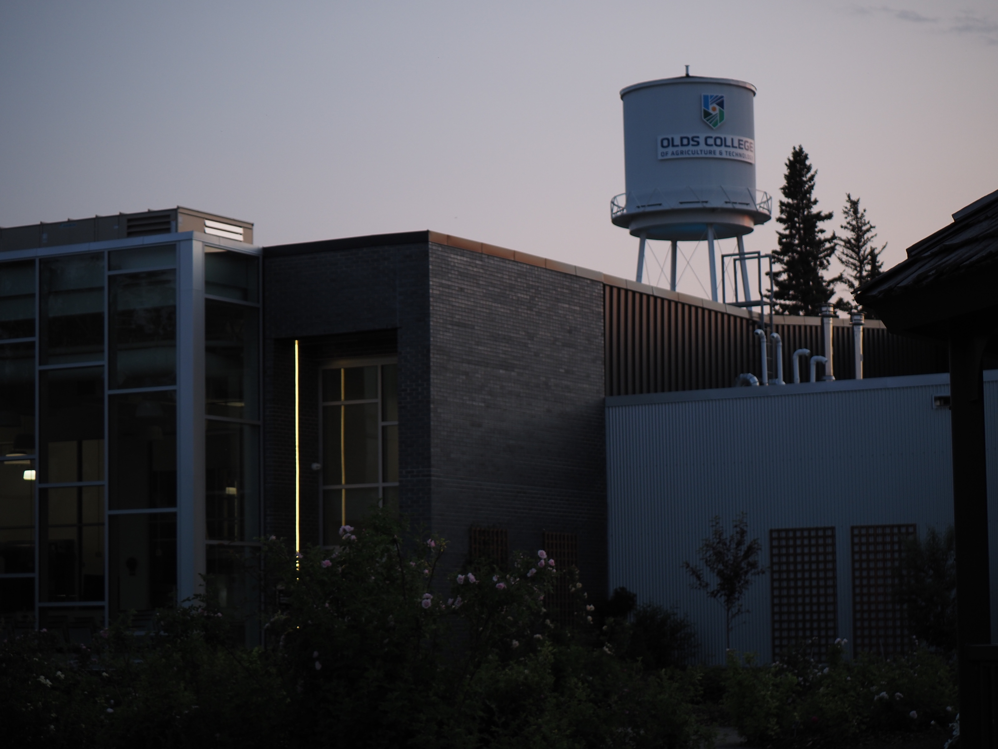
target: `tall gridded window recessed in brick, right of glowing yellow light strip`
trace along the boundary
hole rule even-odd
[[[398,387],[395,364],[322,370],[323,542],[374,507],[398,501]]]

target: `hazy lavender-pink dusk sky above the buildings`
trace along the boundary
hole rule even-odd
[[[432,229],[634,278],[619,91],[686,64],[757,88],[758,188],[801,144],[827,229],[859,196],[887,266],[998,189],[994,0],[0,0],[0,226],[182,205],[262,245]]]

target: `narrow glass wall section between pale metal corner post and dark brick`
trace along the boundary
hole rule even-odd
[[[205,249],[206,571],[234,639],[256,644],[259,260]]]

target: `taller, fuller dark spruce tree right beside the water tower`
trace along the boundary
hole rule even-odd
[[[832,237],[818,225],[832,214],[816,211],[814,178],[803,146],[796,146],[786,160],[786,175],[780,192],[779,217],[783,231],[776,232],[779,248],[772,253],[778,270],[773,272],[776,306],[784,315],[817,315],[820,306],[831,299],[839,279],[825,279],[822,273],[835,253]]]

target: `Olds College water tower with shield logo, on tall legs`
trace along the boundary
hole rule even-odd
[[[729,78],[687,74],[628,86],[624,101],[627,192],[611,202],[611,220],[641,239],[672,242],[676,291],[680,242],[707,241],[711,296],[718,300],[715,240],[738,238],[743,283],[749,270],[742,238],[769,220],[772,199],[755,189],[755,87]]]

